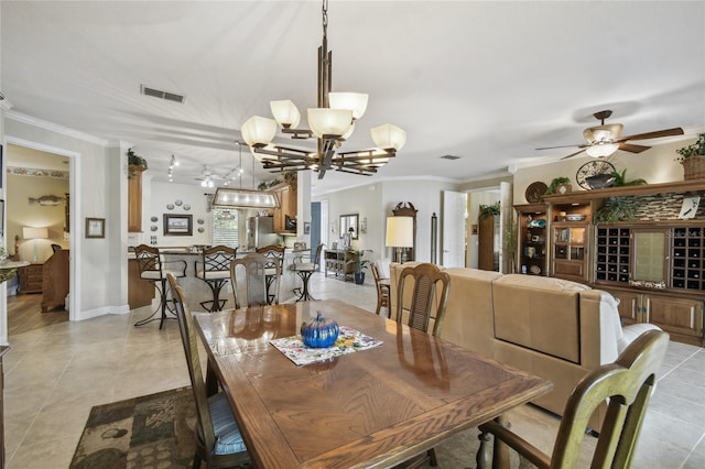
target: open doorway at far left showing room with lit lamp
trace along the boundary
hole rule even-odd
[[[31,263],[31,275],[20,274],[7,288],[6,330],[17,335],[70,319],[78,227],[70,216],[76,204],[70,193],[77,155],[13,138],[6,143],[6,246],[9,254]],[[39,228],[42,236],[29,239],[32,230],[25,228]],[[59,248],[63,252],[55,254]],[[46,275],[61,275],[63,282],[52,281],[52,288],[45,288],[45,269]]]

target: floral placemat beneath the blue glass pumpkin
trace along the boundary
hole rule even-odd
[[[338,339],[333,346],[324,349],[304,346],[301,336],[283,337],[281,339],[270,340],[269,342],[284,353],[284,356],[297,367],[329,360],[341,355],[371,349],[372,347],[383,343],[381,340],[373,339],[347,326],[340,326]]]

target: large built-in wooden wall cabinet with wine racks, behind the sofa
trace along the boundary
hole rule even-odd
[[[625,324],[651,323],[673,340],[704,346],[705,204],[680,218],[692,196],[705,199],[705,179],[544,196],[550,275],[611,293]],[[600,221],[599,210],[616,204],[633,216]],[[534,234],[522,228],[522,207],[518,259],[529,265],[523,249]]]

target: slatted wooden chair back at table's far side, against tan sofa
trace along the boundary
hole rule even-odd
[[[422,263],[404,268],[399,275],[397,288],[398,323],[403,321],[403,297],[404,290],[408,288],[412,288],[409,326],[427,332],[435,306],[433,335],[441,334],[443,315],[448,303],[451,276],[435,264]]]

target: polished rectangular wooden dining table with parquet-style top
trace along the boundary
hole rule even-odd
[[[383,343],[297,367],[270,340],[297,335],[318,312]],[[552,389],[547,380],[338,301],[194,317],[260,468],[393,466]]]

